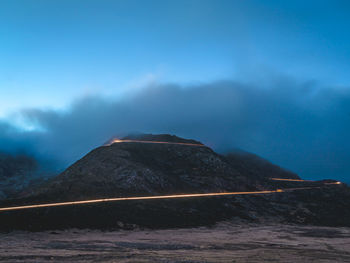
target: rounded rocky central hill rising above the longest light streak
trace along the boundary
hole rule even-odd
[[[99,147],[35,194],[72,200],[256,189],[223,156],[194,140],[169,135],[123,138],[130,139],[170,143],[123,142]]]

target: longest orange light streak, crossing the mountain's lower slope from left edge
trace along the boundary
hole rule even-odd
[[[300,190],[302,189],[310,189],[310,187],[300,188]],[[116,202],[116,201],[127,201],[127,200],[151,200],[151,199],[174,199],[174,198],[191,198],[191,197],[205,197],[205,196],[274,194],[274,193],[283,193],[283,192],[295,191],[295,190],[299,190],[299,188],[291,188],[291,189],[287,188],[287,189],[277,189],[277,190],[253,191],[253,192],[223,192],[223,193],[204,193],[204,194],[116,197],[116,198],[103,198],[103,199],[82,200],[82,201],[72,201],[72,202],[58,202],[58,203],[46,203],[46,204],[37,204],[37,205],[3,207],[3,208],[0,208],[0,211],[21,210],[21,209],[30,209],[30,208],[40,208],[40,207],[93,204],[93,203]]]

